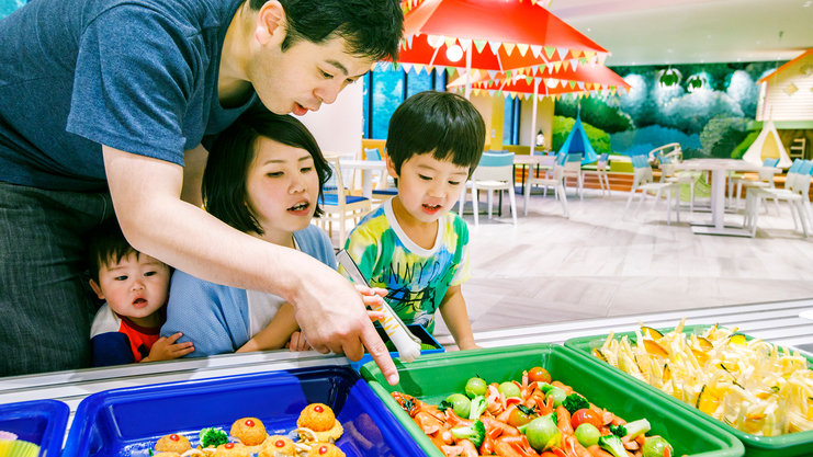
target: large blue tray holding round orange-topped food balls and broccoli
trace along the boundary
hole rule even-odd
[[[204,427],[259,418],[269,435],[286,435],[310,403],[336,412],[348,456],[425,456],[359,375],[347,367],[315,367],[239,375],[98,392],[79,404],[63,457],[147,456],[163,435],[192,446]]]

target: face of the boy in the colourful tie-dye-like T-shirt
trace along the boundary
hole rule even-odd
[[[395,165],[388,158],[387,170],[396,176]],[[467,167],[440,161],[431,153],[415,156],[400,165],[398,198],[413,217],[432,222],[458,203],[467,176]]]

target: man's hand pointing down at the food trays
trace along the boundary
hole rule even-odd
[[[323,354],[345,354],[353,362],[364,355],[366,347],[387,382],[398,384],[398,372],[366,313],[359,290],[335,271],[325,269],[324,274],[314,272],[303,277],[303,285],[292,301],[296,321],[308,343]]]

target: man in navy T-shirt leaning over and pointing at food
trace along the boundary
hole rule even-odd
[[[87,233],[287,299],[317,351],[365,344],[355,289],[200,209],[204,135],[262,103],[304,114],[395,58],[397,0],[35,0],[0,21],[0,375],[87,366]]]

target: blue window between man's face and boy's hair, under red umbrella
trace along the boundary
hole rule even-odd
[[[364,138],[386,139],[389,118],[395,108],[404,103],[406,98],[418,92],[444,91],[448,77],[444,70],[440,72],[432,70],[429,75],[421,71],[417,75],[415,69],[407,73],[402,67],[394,69],[393,66],[387,66],[382,69],[376,66],[375,70],[370,71],[362,80]]]

